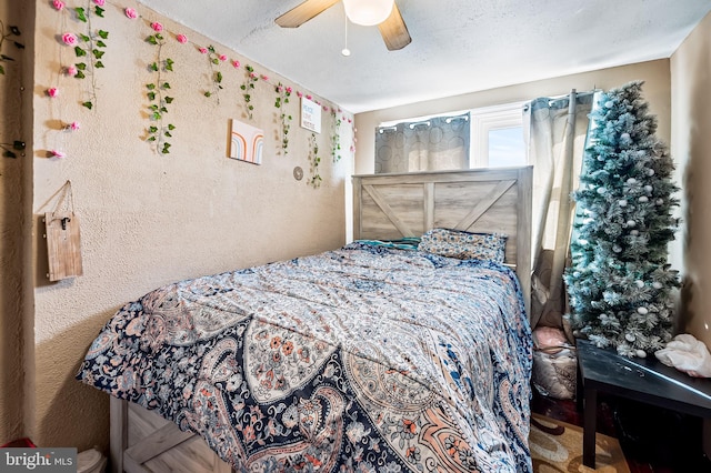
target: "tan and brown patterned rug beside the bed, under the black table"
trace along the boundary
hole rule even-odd
[[[595,435],[597,470],[582,464],[582,427],[533,414],[529,440],[535,473],[630,473],[620,442],[601,433]]]

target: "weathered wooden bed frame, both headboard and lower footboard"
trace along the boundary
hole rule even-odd
[[[531,292],[532,167],[353,177],[353,238],[420,236],[432,228],[500,232],[527,309]],[[198,435],[110,397],[112,472],[231,472]]]

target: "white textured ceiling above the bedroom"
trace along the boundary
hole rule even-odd
[[[296,29],[301,0],[139,0],[351,112],[669,58],[709,0],[395,0],[412,43],[388,51],[342,3]],[[643,78],[640,78],[643,79]]]

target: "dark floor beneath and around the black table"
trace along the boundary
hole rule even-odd
[[[533,412],[582,425],[574,401],[533,391]],[[612,396],[601,395],[599,403],[598,432],[620,441],[632,473],[711,472],[701,447],[701,419]]]

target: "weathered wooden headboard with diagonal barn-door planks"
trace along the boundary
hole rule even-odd
[[[433,228],[505,233],[527,310],[532,167],[353,177],[353,239],[421,236]]]

